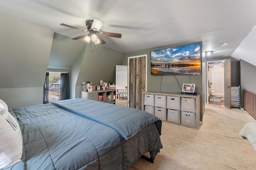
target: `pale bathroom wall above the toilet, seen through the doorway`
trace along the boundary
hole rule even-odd
[[[224,64],[209,64],[208,78],[214,93],[224,94]],[[224,100],[224,97],[220,100]]]

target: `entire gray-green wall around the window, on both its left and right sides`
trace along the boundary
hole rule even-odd
[[[115,82],[125,55],[74,41],[53,30],[0,14],[0,99],[10,108],[43,103],[47,69],[68,70],[70,98],[80,98],[83,81]]]

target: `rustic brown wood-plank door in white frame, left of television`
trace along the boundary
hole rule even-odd
[[[138,56],[128,59],[129,64],[129,98],[128,107],[142,109],[142,93],[146,87],[146,57]]]

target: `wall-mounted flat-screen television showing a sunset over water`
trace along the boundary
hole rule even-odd
[[[151,75],[201,74],[201,43],[151,51]]]

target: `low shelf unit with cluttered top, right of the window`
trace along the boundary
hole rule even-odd
[[[95,90],[92,92],[81,92],[81,98],[84,99],[90,99],[90,100],[96,100],[98,101],[98,94],[102,96],[102,101],[105,103],[115,104],[116,100],[114,99],[114,94],[116,94],[115,89],[110,90]]]

